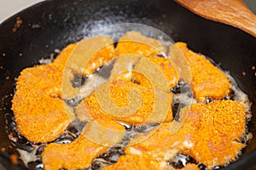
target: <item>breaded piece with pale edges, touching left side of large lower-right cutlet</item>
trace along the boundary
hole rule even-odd
[[[131,139],[131,145],[125,149],[125,154],[145,156],[148,155],[154,160],[169,161],[177,153],[189,150],[194,129],[190,124],[184,123],[183,126],[172,134],[173,123],[164,122],[160,127],[155,127],[154,133],[138,134]],[[146,139],[145,137],[148,137]],[[142,139],[145,139],[142,141]],[[142,141],[142,142],[140,142]]]

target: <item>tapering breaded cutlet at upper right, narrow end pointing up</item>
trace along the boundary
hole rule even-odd
[[[204,102],[207,98],[223,99],[225,95],[229,94],[232,86],[224,72],[212,65],[205,56],[189,50],[186,43],[177,42],[176,45],[189,64],[195,99]]]

